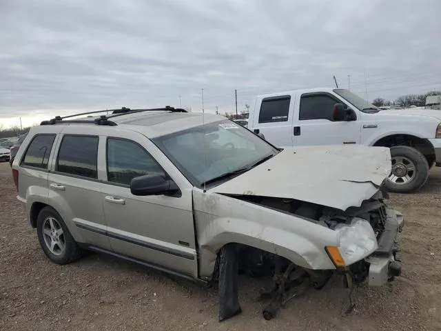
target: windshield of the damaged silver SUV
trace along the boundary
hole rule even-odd
[[[245,172],[244,168],[278,153],[256,134],[228,119],[152,140],[198,188],[225,174]]]

